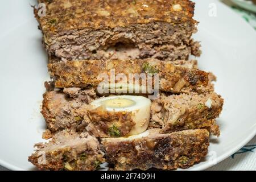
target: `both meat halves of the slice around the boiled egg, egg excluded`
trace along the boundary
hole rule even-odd
[[[77,93],[72,95],[70,90]],[[68,88],[64,92],[52,91],[44,94],[42,114],[52,133],[63,129],[84,130],[89,127],[88,130],[96,137],[112,137],[109,133],[110,126],[118,122],[118,137],[122,137],[134,126],[130,113],[106,114],[100,109],[90,109],[89,102],[98,98],[91,89]],[[82,99],[84,97],[85,100]],[[223,100],[216,93],[162,94],[151,103],[150,128],[159,128],[162,133],[169,133],[215,125],[214,119],[221,113]]]

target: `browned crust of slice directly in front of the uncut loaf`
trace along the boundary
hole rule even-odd
[[[57,88],[97,87],[103,80],[98,76],[105,73],[110,78],[114,74],[146,73],[144,65],[148,64],[159,73],[159,89],[166,92],[180,93],[184,88],[197,88],[208,85],[208,73],[199,69],[188,69],[159,60],[84,60],[67,61],[67,63],[48,64],[49,73]],[[109,79],[110,80],[110,79]],[[128,80],[128,79],[127,79]],[[154,86],[154,85],[153,85]]]

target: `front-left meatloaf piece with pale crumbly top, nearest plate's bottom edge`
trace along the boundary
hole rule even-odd
[[[100,143],[88,133],[63,130],[48,143],[38,143],[28,161],[40,170],[95,170],[105,162]]]

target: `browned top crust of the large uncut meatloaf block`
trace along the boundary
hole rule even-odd
[[[95,30],[151,22],[196,23],[192,19],[195,3],[187,0],[39,0],[38,2],[45,3],[47,7],[46,16],[39,17],[36,9],[35,16],[43,32],[47,32],[48,35],[83,28]],[[174,5],[180,5],[181,9],[175,9]]]

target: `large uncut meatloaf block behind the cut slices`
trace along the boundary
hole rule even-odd
[[[83,59],[187,59],[200,55],[188,0],[39,0],[46,16],[35,17],[49,57]],[[55,59],[55,60],[58,60]]]

